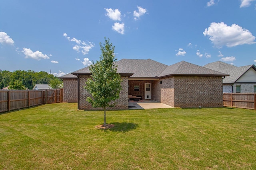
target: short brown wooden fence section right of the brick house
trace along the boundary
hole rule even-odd
[[[223,106],[256,110],[256,93],[224,93]]]

